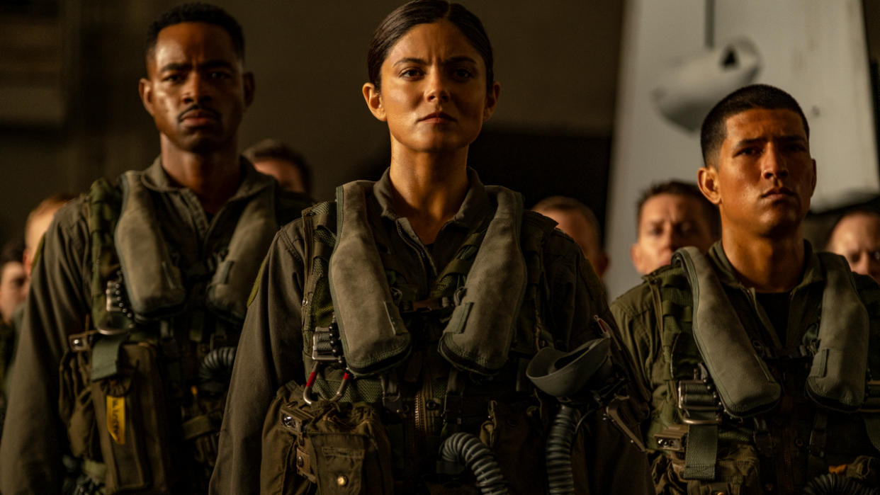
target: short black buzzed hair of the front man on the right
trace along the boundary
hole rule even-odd
[[[766,110],[790,110],[801,118],[803,132],[810,139],[810,125],[803,114],[801,106],[787,92],[768,84],[752,84],[733,91],[709,111],[703,126],[700,128],[700,149],[703,152],[703,163],[716,166],[716,157],[721,143],[727,137],[727,120],[746,110],[762,108]]]

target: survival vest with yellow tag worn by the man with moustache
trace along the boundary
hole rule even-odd
[[[92,309],[69,336],[60,399],[83,492],[207,487],[247,296],[275,231],[307,205],[268,186],[221,249],[180,266],[142,176],[87,195]]]

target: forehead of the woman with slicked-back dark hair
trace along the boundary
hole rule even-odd
[[[430,24],[414,25],[394,43],[385,58],[385,64],[394,64],[400,59],[418,58],[422,60],[467,56],[476,62],[483,62],[476,48],[454,24],[440,19]]]

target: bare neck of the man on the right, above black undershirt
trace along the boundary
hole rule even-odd
[[[801,227],[780,238],[746,237],[722,230],[724,254],[737,279],[758,292],[788,292],[801,280],[805,251]]]

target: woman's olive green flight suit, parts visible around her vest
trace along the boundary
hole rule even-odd
[[[428,297],[429,284],[437,273],[456,255],[459,246],[494,215],[495,207],[476,172],[468,169],[468,178],[470,188],[458,213],[443,226],[431,246],[422,244],[407,218],[393,211],[388,171],[366,195],[368,215],[372,216],[370,224],[380,224],[385,229],[391,252],[399,253],[394,262],[400,272],[407,273],[407,276],[411,274],[412,279],[417,280],[416,300]],[[272,458],[262,457],[260,440],[264,421],[268,424],[273,420],[267,419],[267,411],[276,391],[291,381],[304,384],[310,371],[304,365],[304,355],[308,355],[311,349],[304,348],[302,329],[306,236],[302,220],[282,229],[275,237],[260,274],[239,342],[217,464],[211,478],[211,493],[268,492],[260,487],[260,467],[266,470],[269,465],[277,466],[287,461],[281,452]],[[541,260],[548,291],[545,296],[550,302],[546,313],[552,320],[546,324],[550,326],[556,346],[570,349],[597,338],[593,316],[608,318],[610,314],[604,290],[577,244],[555,230],[544,245]],[[334,283],[344,283],[344,280]],[[420,366],[444,361],[436,346],[426,352]],[[505,376],[504,381],[513,382],[516,378],[511,374]],[[442,404],[442,401],[436,404]],[[382,408],[382,405],[378,404],[378,407]],[[584,446],[588,465],[576,469],[578,479],[589,479],[589,486],[583,484],[578,491],[645,492],[649,482],[644,455],[621,433],[607,425],[596,425],[597,422],[601,423],[586,421],[590,430],[587,433],[589,440],[586,440],[589,445]],[[436,456],[436,452],[422,452],[422,456],[430,458]],[[416,469],[409,467],[410,470]],[[523,471],[526,477],[546,479],[542,465],[517,465],[512,469]],[[511,487],[512,492],[517,492],[516,489],[516,486]],[[461,490],[473,488],[463,486]]]

